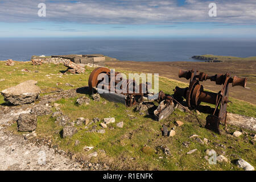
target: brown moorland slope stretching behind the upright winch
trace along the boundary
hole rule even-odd
[[[256,104],[256,61],[226,61],[224,63],[109,61],[106,64],[110,68],[126,69],[133,72],[159,73],[159,76],[187,83],[189,83],[188,80],[178,77],[179,69],[196,69],[208,73],[209,76],[229,72],[232,76],[248,77],[247,88],[236,86],[230,88],[229,93],[234,98]],[[221,90],[220,85],[209,80],[204,81],[203,85],[205,89],[214,92]]]

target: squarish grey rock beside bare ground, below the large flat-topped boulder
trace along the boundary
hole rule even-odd
[[[18,131],[34,131],[37,124],[36,114],[20,114],[17,121]]]

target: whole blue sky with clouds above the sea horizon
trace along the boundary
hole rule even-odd
[[[0,37],[256,38],[256,0],[0,0]]]

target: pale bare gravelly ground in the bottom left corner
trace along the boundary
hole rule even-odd
[[[19,114],[29,113],[34,106],[0,106],[0,170],[81,170],[79,163],[57,154],[53,148],[36,146],[6,130]]]

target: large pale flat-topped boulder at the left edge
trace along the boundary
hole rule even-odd
[[[10,102],[13,105],[30,104],[34,102],[41,93],[39,86],[35,85],[37,83],[38,82],[35,80],[28,80],[19,85],[2,90],[1,94],[6,102]]]

